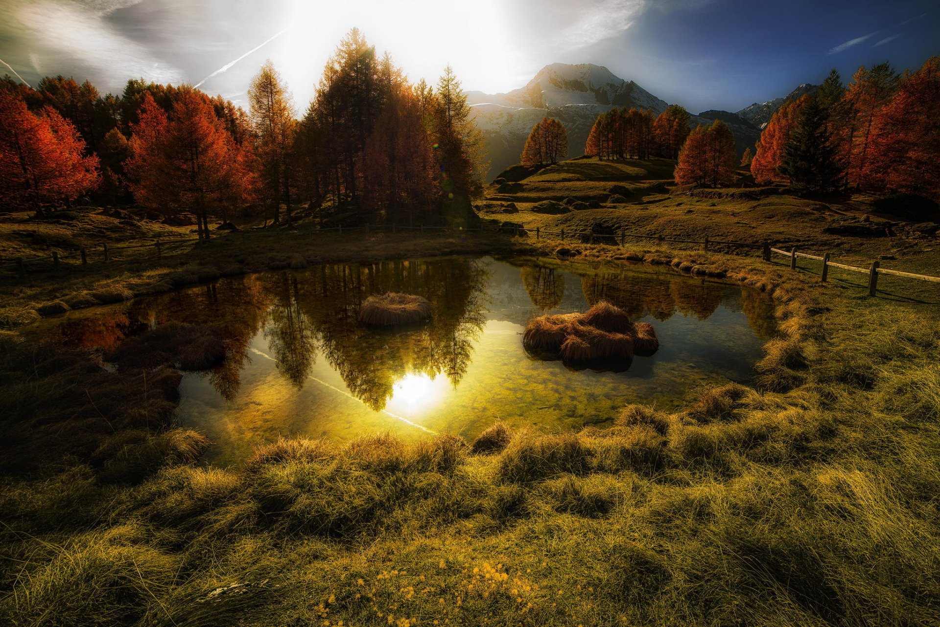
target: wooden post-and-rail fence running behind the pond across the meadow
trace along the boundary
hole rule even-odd
[[[444,231],[444,232],[450,232],[450,233],[455,233],[455,234],[456,233],[474,233],[474,232],[481,233],[481,232],[489,231],[493,233],[509,234],[509,235],[512,235],[513,237],[520,237],[523,235],[527,237],[535,236],[537,239],[539,239],[542,236],[554,236],[562,240],[564,240],[566,237],[574,237],[578,239],[579,241],[581,241],[582,243],[593,244],[596,242],[596,243],[610,243],[614,245],[617,245],[619,243],[620,246],[624,246],[626,243],[626,239],[629,237],[632,239],[649,239],[649,240],[654,240],[654,241],[661,242],[661,243],[696,244],[696,245],[701,246],[702,250],[704,251],[708,251],[709,248],[712,246],[728,246],[731,248],[746,248],[746,249],[753,249],[753,250],[760,249],[761,257],[766,262],[773,261],[774,253],[781,254],[781,255],[788,257],[790,259],[790,268],[793,270],[796,269],[796,260],[801,257],[822,262],[823,270],[822,270],[820,280],[823,282],[828,280],[830,267],[840,268],[843,270],[848,270],[850,272],[859,272],[862,274],[867,274],[869,276],[869,281],[868,281],[869,296],[875,296],[875,294],[877,293],[878,275],[880,274],[898,276],[898,277],[902,277],[905,279],[915,279],[917,281],[928,281],[932,283],[940,283],[940,277],[933,277],[933,276],[928,276],[924,274],[915,274],[913,272],[903,272],[901,270],[894,270],[894,269],[889,269],[889,268],[881,268],[881,264],[879,261],[871,262],[871,265],[869,268],[857,268],[855,266],[839,264],[835,261],[830,260],[829,258],[830,255],[828,252],[823,254],[823,256],[809,254],[807,252],[800,252],[796,248],[791,248],[791,250],[788,252],[785,250],[775,248],[772,245],[772,242],[770,241],[763,241],[761,243],[753,243],[753,242],[729,241],[729,240],[724,240],[724,239],[711,239],[709,237],[705,237],[704,239],[701,239],[701,240],[682,239],[682,238],[676,238],[676,237],[665,237],[662,235],[650,236],[650,235],[644,235],[640,233],[628,233],[622,230],[619,232],[619,234],[609,234],[609,233],[602,234],[602,233],[594,233],[592,231],[586,231],[586,230],[577,230],[577,229],[566,230],[564,228],[561,228],[556,231],[551,231],[551,230],[542,230],[538,226],[535,228],[525,228],[523,226],[516,225],[516,224],[509,225],[509,223],[506,223],[503,225],[493,225],[493,226],[484,225],[484,226],[479,226],[476,228],[462,228],[462,227],[452,227],[452,226],[426,226],[424,224],[420,226],[402,226],[399,224],[379,224],[379,225],[366,224],[364,226],[355,226],[355,227],[333,226],[333,227],[326,227],[326,228],[293,229],[293,230],[287,231],[287,233],[291,235],[302,234],[302,233],[312,235],[312,234],[318,234],[318,233],[335,232],[341,236],[344,231],[346,231],[347,233],[352,232],[352,231],[357,231],[357,232],[365,232],[365,233],[392,233],[392,234],[398,233],[399,231],[401,232],[419,231],[421,233],[424,233],[426,231],[427,232]],[[251,231],[230,232],[227,236],[223,236],[223,237],[216,236],[216,238],[221,238],[223,241],[225,241],[227,237],[241,236],[242,240],[244,241],[245,237],[247,236],[251,236],[251,237],[262,236],[262,237],[275,237],[277,238],[277,240],[280,240],[280,238],[283,237],[282,232],[285,232],[285,230],[281,228],[263,229],[263,230],[256,229],[256,230],[251,230]],[[102,244],[101,247],[94,249],[94,252],[100,253],[102,261],[104,262],[111,261],[112,254],[116,251],[126,251],[126,250],[132,250],[132,249],[150,248],[150,249],[153,249],[154,256],[156,256],[157,258],[160,258],[164,255],[164,252],[167,252],[173,247],[179,246],[180,244],[196,243],[198,241],[199,240],[196,237],[174,237],[170,239],[156,238],[153,241],[149,241],[143,244],[131,244],[131,245],[125,245],[125,246],[109,246],[108,244]],[[39,263],[48,264],[48,262],[51,261],[52,268],[58,269],[58,268],[65,266],[66,264],[64,264],[64,262],[68,259],[79,259],[80,264],[82,266],[86,266],[89,263],[88,258],[90,254],[91,254],[91,251],[83,248],[82,250],[78,252],[73,252],[71,254],[59,254],[58,252],[54,251],[49,256],[34,257],[32,259],[24,259],[22,257],[18,257],[13,263],[0,265],[0,269],[15,268],[15,271],[20,275],[20,278],[25,279],[27,273],[30,271],[30,267],[29,267],[30,264],[33,264],[35,268],[35,265]]]

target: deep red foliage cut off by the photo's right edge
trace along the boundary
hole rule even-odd
[[[940,56],[901,79],[898,94],[874,116],[866,187],[940,196]]]

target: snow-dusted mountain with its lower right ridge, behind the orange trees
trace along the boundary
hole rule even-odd
[[[506,94],[470,91],[467,102],[491,161],[488,180],[519,162],[529,131],[546,115],[565,125],[568,154],[573,157],[584,152],[598,114],[616,107],[635,107],[659,115],[669,106],[666,100],[656,98],[633,81],[624,81],[609,69],[589,63],[553,63],[540,69],[525,87]],[[747,118],[727,111],[703,112],[693,116],[690,124],[710,124],[715,118],[729,125],[739,154],[760,137],[760,129]]]

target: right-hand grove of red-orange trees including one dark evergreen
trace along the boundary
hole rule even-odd
[[[940,195],[940,56],[899,74],[859,68],[848,86],[832,70],[813,96],[768,122],[751,172],[807,192]]]

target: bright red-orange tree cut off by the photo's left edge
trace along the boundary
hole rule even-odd
[[[9,205],[39,212],[94,189],[98,158],[84,150],[78,131],[54,110],[32,114],[22,99],[0,91],[0,196]]]

